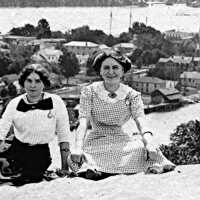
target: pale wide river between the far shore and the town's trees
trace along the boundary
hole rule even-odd
[[[41,18],[47,19],[51,30],[62,32],[89,25],[110,33],[110,13],[112,11],[111,34],[127,32],[131,23],[139,21],[160,31],[176,29],[198,32],[200,27],[200,8],[185,4],[167,6],[164,4],[149,7],[57,7],[57,8],[0,8],[0,32],[7,33],[13,27],[27,23],[37,25]]]

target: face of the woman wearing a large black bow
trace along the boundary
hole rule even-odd
[[[24,89],[29,98],[39,98],[44,89],[44,84],[40,76],[32,72],[24,82]]]

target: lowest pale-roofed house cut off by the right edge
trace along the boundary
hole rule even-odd
[[[179,83],[184,87],[200,89],[200,72],[183,72],[180,75]]]

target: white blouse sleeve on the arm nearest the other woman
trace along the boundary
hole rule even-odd
[[[67,108],[60,97],[57,97],[54,101],[56,106],[56,133],[58,142],[69,142],[70,125]]]

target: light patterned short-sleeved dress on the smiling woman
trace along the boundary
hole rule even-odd
[[[173,165],[160,150],[155,160],[147,161],[141,136],[122,131],[122,125],[130,117],[143,116],[143,110],[141,95],[133,89],[114,103],[100,98],[93,85],[83,89],[79,117],[87,117],[92,125],[83,150],[93,167],[107,173],[137,173],[157,164]]]

